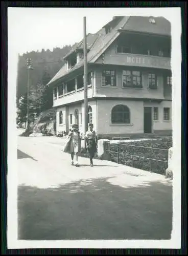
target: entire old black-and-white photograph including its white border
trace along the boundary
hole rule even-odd
[[[180,11],[133,9],[8,8],[10,248],[180,248]]]

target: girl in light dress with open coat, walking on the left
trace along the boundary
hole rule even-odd
[[[68,140],[69,140],[69,152],[71,155],[71,164],[74,165],[74,155],[76,158],[75,166],[79,166],[78,163],[78,152],[81,149],[81,137],[80,132],[78,131],[78,125],[75,123],[72,125],[73,130],[68,133]]]

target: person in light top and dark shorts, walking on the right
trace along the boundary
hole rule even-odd
[[[88,131],[85,134],[85,140],[87,145],[87,150],[89,153],[89,159],[90,159],[90,166],[93,166],[93,157],[95,156],[95,153],[97,152],[97,135],[96,132],[93,131],[93,124],[88,124]]]

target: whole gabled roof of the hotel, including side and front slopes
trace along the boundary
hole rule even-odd
[[[163,17],[154,17],[155,24],[149,22],[149,17],[144,16],[120,16],[119,22],[115,27],[106,34],[105,26],[99,30],[96,34],[87,35],[87,47],[89,52],[87,53],[87,62],[95,63],[95,61],[103,54],[103,52],[112,44],[112,42],[121,34],[121,31],[134,31],[140,33],[154,33],[158,35],[171,36],[171,24]],[[116,19],[117,20],[117,19]],[[108,23],[109,24],[109,23]],[[107,24],[107,25],[108,25]],[[76,51],[77,49],[83,49],[83,40],[74,46],[74,48],[64,57]],[[48,83],[51,84],[60,78],[66,76],[70,72],[79,69],[84,65],[84,60],[81,59],[76,65],[67,70],[66,64],[57,72],[57,74]]]

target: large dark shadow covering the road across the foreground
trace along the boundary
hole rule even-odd
[[[123,188],[107,179],[45,189],[19,186],[18,239],[171,239],[171,186]]]

